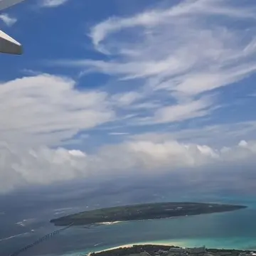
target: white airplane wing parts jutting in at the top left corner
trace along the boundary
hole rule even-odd
[[[7,9],[23,0],[0,0],[0,11]],[[22,46],[11,36],[0,30],[0,53],[21,54]]]

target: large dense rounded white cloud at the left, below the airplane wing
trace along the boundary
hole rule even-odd
[[[106,92],[79,92],[55,75],[1,83],[0,101],[0,139],[16,144],[59,144],[114,118]]]

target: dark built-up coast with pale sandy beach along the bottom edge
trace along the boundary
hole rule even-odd
[[[174,245],[132,245],[101,252],[90,252],[87,256],[255,256],[255,252],[235,249],[210,249],[205,246],[182,248]]]

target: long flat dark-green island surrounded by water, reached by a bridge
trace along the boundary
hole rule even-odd
[[[151,220],[206,213],[222,213],[239,210],[246,206],[220,203],[144,203],[132,206],[117,206],[87,210],[50,220],[57,226],[97,225],[128,220]]]

